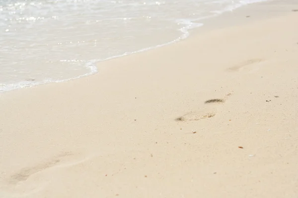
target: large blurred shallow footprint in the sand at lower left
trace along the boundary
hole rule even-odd
[[[84,163],[94,156],[63,152],[35,166],[22,168],[5,177],[0,177],[0,197],[2,195],[7,195],[5,197],[30,196],[47,185],[49,179],[53,177],[53,171]]]

